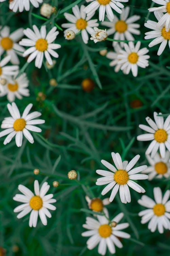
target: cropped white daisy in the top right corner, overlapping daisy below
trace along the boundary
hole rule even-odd
[[[163,25],[165,25],[166,31],[168,32],[170,29],[170,0],[152,0],[153,2],[157,3],[157,4],[161,4],[162,6],[159,7],[153,7],[153,8],[149,8],[148,10],[150,12],[166,12],[166,14],[164,14],[158,24],[157,27],[161,27]]]

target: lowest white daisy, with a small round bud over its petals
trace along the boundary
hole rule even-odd
[[[108,211],[104,208],[104,213],[108,216]],[[115,245],[119,248],[122,248],[123,245],[117,237],[121,238],[130,238],[130,234],[121,231],[124,228],[129,227],[129,223],[118,224],[123,218],[123,213],[119,213],[116,217],[112,219],[112,224],[109,225],[109,221],[105,216],[97,215],[97,219],[86,217],[86,224],[83,224],[83,227],[89,229],[82,233],[83,237],[90,237],[87,240],[87,248],[92,250],[98,244],[98,253],[101,255],[106,254],[108,248],[110,253],[115,253]]]

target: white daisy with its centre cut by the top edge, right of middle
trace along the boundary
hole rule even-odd
[[[112,9],[118,13],[122,13],[120,8],[124,8],[124,5],[121,2],[125,3],[128,2],[128,0],[86,0],[86,2],[92,2],[84,9],[87,16],[90,16],[99,8],[99,20],[103,22],[106,12],[108,19],[112,22],[114,19]]]

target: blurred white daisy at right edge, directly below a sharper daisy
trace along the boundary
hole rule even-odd
[[[148,180],[152,180],[155,176],[156,178],[161,179],[163,176],[168,178],[170,176],[170,152],[166,151],[165,158],[159,156],[158,153],[155,154],[153,158],[150,155],[146,155],[148,162],[151,166],[149,166],[145,171],[142,173],[147,173],[149,178]]]

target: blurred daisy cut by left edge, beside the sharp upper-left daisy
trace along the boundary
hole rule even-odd
[[[18,55],[22,56],[25,49],[17,42],[23,37],[23,28],[19,28],[10,34],[10,27],[0,26],[0,55],[6,51],[7,56],[11,56],[12,64],[19,64]]]

